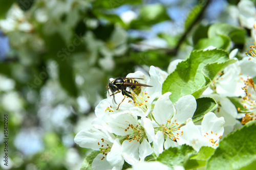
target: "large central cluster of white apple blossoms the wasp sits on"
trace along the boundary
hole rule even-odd
[[[149,75],[141,71],[127,75],[126,78],[139,78],[136,81],[152,87],[141,87],[140,94],[133,94],[133,99],[126,96],[123,100],[119,92],[114,100],[108,92],[107,98],[95,108],[92,128],[75,136],[80,147],[100,151],[92,169],[122,169],[124,161],[136,166],[149,155],[159,156],[164,150],[182,144],[196,151],[202,146],[218,147],[224,133],[224,117],[209,112],[201,125],[195,125],[191,119],[197,109],[195,97],[184,95],[172,103],[171,92],[162,94],[167,72],[151,66]]]

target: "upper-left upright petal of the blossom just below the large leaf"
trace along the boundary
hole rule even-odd
[[[166,92],[160,96],[154,107],[154,117],[160,125],[166,124],[166,119],[173,115],[173,103],[169,100],[171,92]]]

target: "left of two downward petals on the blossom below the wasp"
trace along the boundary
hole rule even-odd
[[[122,151],[124,160],[133,165],[139,161],[140,142],[137,140],[124,140],[122,143]]]

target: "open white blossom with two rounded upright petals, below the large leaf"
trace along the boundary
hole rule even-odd
[[[197,102],[193,95],[182,96],[174,105],[169,100],[170,92],[163,94],[156,102],[153,115],[159,130],[155,136],[154,151],[156,155],[164,149],[176,147],[175,142],[181,134],[181,125],[193,117]],[[163,140],[165,138],[165,141]]]

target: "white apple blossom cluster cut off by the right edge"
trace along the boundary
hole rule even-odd
[[[220,72],[202,95],[213,98],[218,103],[218,109],[215,111],[215,114],[218,117],[222,116],[225,118],[224,136],[234,131],[234,129],[241,127],[242,124],[249,122],[248,118],[252,119],[249,116],[254,117],[255,114],[255,90],[252,78],[256,77],[256,62],[248,56],[238,60],[235,58],[237,53],[238,49],[230,52],[229,59],[237,61],[228,65]],[[236,107],[230,101],[234,98],[239,98],[244,110]],[[243,118],[242,124],[238,120],[241,118]]]

